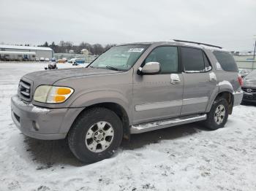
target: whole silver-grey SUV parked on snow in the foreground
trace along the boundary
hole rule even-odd
[[[86,68],[37,71],[20,79],[12,119],[26,136],[65,139],[79,160],[113,155],[132,133],[204,121],[223,128],[241,103],[232,55],[198,42],[112,47]]]

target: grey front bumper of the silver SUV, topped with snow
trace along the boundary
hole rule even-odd
[[[45,109],[25,104],[18,95],[11,98],[12,120],[29,137],[43,140],[64,139],[80,108]]]

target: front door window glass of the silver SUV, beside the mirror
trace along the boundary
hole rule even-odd
[[[160,74],[170,74],[178,71],[178,47],[157,47],[146,58],[145,63],[159,62]]]

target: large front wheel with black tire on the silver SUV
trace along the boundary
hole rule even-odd
[[[80,114],[67,136],[70,150],[83,163],[95,163],[111,157],[122,138],[120,118],[110,109],[101,107]]]

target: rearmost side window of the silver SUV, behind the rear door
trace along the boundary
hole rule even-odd
[[[236,66],[236,61],[233,56],[228,52],[219,52],[214,51],[214,55],[217,58],[217,61],[222,66],[222,69],[225,71],[238,71]]]

